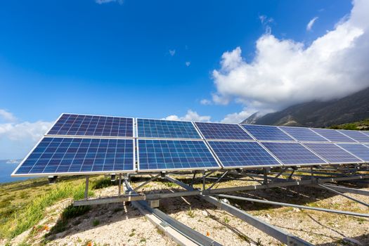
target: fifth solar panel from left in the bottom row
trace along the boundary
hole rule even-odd
[[[362,162],[334,143],[306,143],[306,147],[313,150],[330,163],[357,163]]]

